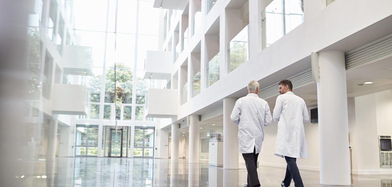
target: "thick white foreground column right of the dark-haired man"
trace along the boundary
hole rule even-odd
[[[350,185],[345,56],[342,51],[323,51],[318,57],[320,183]]]

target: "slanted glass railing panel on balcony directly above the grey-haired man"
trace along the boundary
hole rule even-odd
[[[249,60],[249,25],[230,41],[228,47],[230,53],[228,73],[230,73]]]

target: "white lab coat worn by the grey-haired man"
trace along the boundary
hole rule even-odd
[[[268,103],[257,94],[248,94],[236,101],[230,117],[238,126],[238,152],[253,153],[256,147],[256,154],[260,153],[264,127],[272,121]]]

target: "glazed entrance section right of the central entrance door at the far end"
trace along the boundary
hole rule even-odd
[[[135,127],[133,157],[153,158],[154,127]]]

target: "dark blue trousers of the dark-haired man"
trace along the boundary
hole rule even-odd
[[[294,186],[295,187],[303,187],[301,175],[299,174],[299,170],[297,167],[297,158],[291,158],[288,156],[285,156],[286,162],[287,162],[287,168],[286,168],[286,176],[285,180],[283,183],[285,183],[285,186],[290,186],[291,179],[294,180]]]

